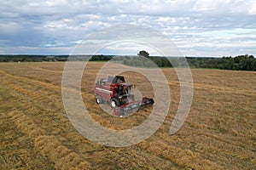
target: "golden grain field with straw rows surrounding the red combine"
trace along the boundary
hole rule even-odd
[[[84,139],[67,119],[61,100],[64,64],[0,64],[0,169],[256,168],[256,72],[192,69],[193,104],[183,127],[170,136],[180,88],[175,70],[163,69],[172,95],[166,121],[139,144],[109,148]],[[141,124],[152,108],[120,119],[96,105],[94,82],[102,65],[90,62],[82,80],[90,115],[113,129]],[[154,95],[146,77],[123,75],[144,96]]]

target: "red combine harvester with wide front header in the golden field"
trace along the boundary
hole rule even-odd
[[[96,103],[107,101],[113,107],[113,115],[120,117],[128,115],[134,109],[154,104],[154,100],[147,97],[135,101],[134,94],[131,94],[132,87],[122,76],[101,79],[95,86]]]

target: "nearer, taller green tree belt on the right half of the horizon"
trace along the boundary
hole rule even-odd
[[[118,60],[118,58],[116,58]],[[140,51],[137,56],[121,56],[124,65],[142,67],[191,67],[212,68],[236,71],[256,71],[256,59],[253,55],[237,55],[236,57],[207,58],[207,57],[157,57],[149,56],[148,52]],[[152,61],[154,65],[152,64]]]

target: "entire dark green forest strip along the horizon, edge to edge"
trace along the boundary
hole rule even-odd
[[[183,62],[183,58],[170,57],[157,57],[149,56],[145,51],[140,51],[137,56],[114,56],[114,55],[0,55],[0,62],[44,62],[44,61],[108,61],[110,59],[113,62],[121,62],[124,65],[133,65],[141,67],[152,67],[152,61],[154,66],[160,67],[178,67],[187,66]],[[149,61],[149,59],[151,61]],[[172,61],[172,63],[170,62]],[[236,57],[222,58],[208,58],[208,57],[186,57],[186,60],[191,68],[211,68],[211,69],[223,69],[223,70],[236,70],[236,71],[256,71],[256,59],[253,55],[238,55]]]

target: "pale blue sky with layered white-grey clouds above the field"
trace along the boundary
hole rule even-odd
[[[159,31],[184,56],[256,55],[255,0],[9,0],[0,11],[0,54],[71,54],[86,37],[131,24]],[[140,50],[124,42],[101,52]]]

